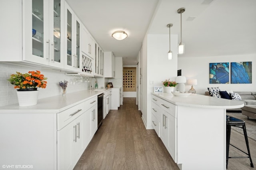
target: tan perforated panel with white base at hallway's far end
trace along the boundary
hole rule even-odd
[[[123,97],[136,97],[137,75],[136,66],[123,67]]]

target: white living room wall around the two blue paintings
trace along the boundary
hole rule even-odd
[[[210,84],[209,63],[252,61],[252,83],[251,84]],[[197,79],[198,85],[194,85],[197,94],[204,95],[207,87],[220,87],[220,90],[233,91],[256,91],[256,54],[252,55],[230,55],[215,57],[178,57],[178,69],[182,69],[182,75],[187,79]],[[186,90],[191,85],[186,84]]]

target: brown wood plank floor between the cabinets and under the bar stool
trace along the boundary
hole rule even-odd
[[[243,136],[232,130],[231,142],[246,149]],[[249,139],[252,161],[256,142]],[[210,147],[210,146],[209,146]],[[230,147],[230,156],[241,155]],[[74,170],[179,170],[154,130],[146,130],[136,98],[124,98],[124,105],[104,119]],[[229,170],[251,170],[248,158],[233,158]]]

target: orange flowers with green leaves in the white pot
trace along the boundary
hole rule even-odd
[[[10,76],[10,83],[14,85],[14,89],[30,89],[30,88],[46,88],[47,78],[40,71],[28,71],[22,74],[16,71],[16,74]]]

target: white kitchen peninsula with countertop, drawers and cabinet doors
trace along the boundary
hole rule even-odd
[[[226,109],[241,101],[152,93],[152,126],[182,170],[226,169]]]

